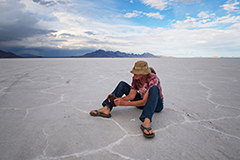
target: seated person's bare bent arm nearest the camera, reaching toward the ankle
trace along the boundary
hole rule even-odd
[[[131,92],[131,91],[130,91]],[[130,94],[130,93],[129,93]],[[127,96],[126,96],[127,97]],[[135,98],[135,97],[134,97]],[[133,99],[134,99],[133,98]],[[133,100],[133,99],[131,99],[131,100]],[[127,100],[127,98],[126,99],[124,99],[124,98],[116,98],[115,100],[114,100],[114,103],[117,105],[117,106],[136,106],[136,107],[138,107],[138,106],[144,106],[145,104],[146,104],[146,102],[147,102],[147,100],[148,100],[148,91],[147,91],[147,93],[144,95],[144,97],[143,97],[143,99],[142,100],[138,100],[138,101],[129,101],[129,100]]]

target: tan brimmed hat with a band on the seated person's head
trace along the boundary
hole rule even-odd
[[[147,75],[151,73],[151,69],[148,67],[147,62],[145,61],[137,61],[133,67],[133,69],[130,71],[132,74],[143,74]]]

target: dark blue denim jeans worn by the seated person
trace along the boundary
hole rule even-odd
[[[122,97],[124,94],[128,95],[130,92],[130,85],[126,82],[121,81],[117,87],[114,89],[112,94],[114,94],[116,97]],[[136,97],[132,101],[142,100],[139,93],[137,93]],[[107,105],[110,110],[113,109],[113,105],[108,101],[108,99],[105,99],[102,103],[103,106]],[[157,86],[152,86],[149,89],[148,92],[148,100],[144,106],[137,107],[139,109],[142,109],[142,114],[139,117],[139,119],[144,122],[145,118],[149,118],[152,121],[152,116],[154,112],[160,112],[163,109],[163,103],[160,96],[160,92]]]

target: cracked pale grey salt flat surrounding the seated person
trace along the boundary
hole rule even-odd
[[[1,59],[0,159],[240,159],[240,59],[145,59],[165,108],[143,137],[141,110],[92,117],[139,59]]]

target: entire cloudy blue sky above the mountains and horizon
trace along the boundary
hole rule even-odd
[[[0,49],[240,57],[239,0],[0,0]]]

